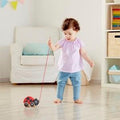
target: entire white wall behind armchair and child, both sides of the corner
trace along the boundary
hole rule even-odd
[[[18,4],[16,11],[10,5],[0,8],[0,79],[10,76],[9,46],[13,42],[15,26],[61,27],[66,17],[74,17],[81,26],[80,38],[96,64],[92,78],[100,80],[101,11],[101,0],[25,0],[24,5]]]

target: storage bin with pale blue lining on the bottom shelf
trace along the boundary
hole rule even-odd
[[[120,84],[120,70],[108,71],[109,82],[114,84]]]

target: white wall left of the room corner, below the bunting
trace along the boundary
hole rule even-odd
[[[13,42],[14,27],[21,25],[34,25],[35,1],[25,0],[24,4],[18,3],[17,10],[10,4],[0,8],[0,80],[10,76],[10,44]]]

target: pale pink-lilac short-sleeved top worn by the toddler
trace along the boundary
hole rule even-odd
[[[84,43],[79,38],[76,38],[75,41],[64,38],[58,44],[62,49],[58,61],[59,71],[73,73],[83,69],[83,61],[79,50],[84,46]]]

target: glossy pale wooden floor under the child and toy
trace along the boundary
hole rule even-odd
[[[23,106],[24,97],[39,98],[41,85],[0,83],[0,120],[120,120],[120,89],[82,86],[82,105],[74,104],[72,86],[65,88],[64,101],[56,105],[56,85],[44,85],[41,103]]]

